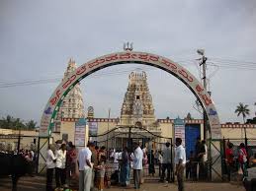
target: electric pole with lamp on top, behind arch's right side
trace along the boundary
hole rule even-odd
[[[202,58],[200,59],[200,66],[202,66],[203,68],[203,85],[204,85],[204,89],[208,92],[208,85],[207,85],[207,60],[208,58],[205,56],[205,50],[204,49],[198,49],[197,50],[198,54],[200,54],[202,56]],[[208,136],[207,136],[207,131],[208,131],[208,116],[207,116],[207,112],[206,109],[203,108],[204,112],[203,112],[203,117],[204,117],[204,140],[207,140]]]

